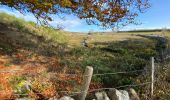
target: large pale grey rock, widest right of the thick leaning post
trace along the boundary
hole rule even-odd
[[[110,100],[130,100],[128,92],[124,90],[118,91],[116,89],[111,89],[109,90],[108,95]]]

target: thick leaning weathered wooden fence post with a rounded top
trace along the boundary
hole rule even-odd
[[[92,75],[93,75],[93,67],[87,66],[83,77],[83,87],[80,94],[80,100],[85,100],[86,98]]]

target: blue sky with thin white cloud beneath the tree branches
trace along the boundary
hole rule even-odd
[[[145,13],[139,14],[137,21],[142,23],[140,25],[128,25],[120,30],[137,30],[137,29],[161,29],[170,28],[170,0],[150,0],[151,8],[149,8]],[[19,18],[24,18],[28,21],[36,22],[34,16],[30,13],[21,14],[15,9],[8,8],[6,6],[0,6],[0,12],[6,12],[8,14],[14,15]],[[95,25],[88,25],[85,20],[80,20],[76,16],[66,15],[64,20],[53,15],[54,19],[50,24],[52,26],[57,26],[57,24],[63,25],[65,31],[70,32],[89,32],[89,31],[112,31],[111,29],[103,30]]]

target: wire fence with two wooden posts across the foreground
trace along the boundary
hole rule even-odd
[[[107,90],[107,89],[118,89],[118,88],[124,88],[124,87],[135,87],[135,86],[143,86],[143,85],[148,85],[148,84],[151,84],[151,95],[153,94],[153,83],[155,82],[154,81],[154,68],[153,68],[153,58],[152,58],[152,69],[144,69],[144,70],[133,70],[133,71],[122,71],[122,72],[115,72],[115,73],[99,73],[99,74],[92,74],[93,72],[91,72],[91,74],[89,74],[88,72],[85,72],[84,75],[81,74],[81,76],[83,76],[83,78],[85,79],[84,81],[84,84],[83,84],[83,89],[80,91],[80,92],[71,92],[71,91],[58,91],[58,93],[68,93],[68,94],[74,94],[74,95],[78,95],[78,94],[81,94],[81,100],[85,100],[85,97],[87,95],[87,93],[91,93],[91,92],[94,92],[94,91],[100,91],[100,90]],[[92,68],[92,67],[91,67]],[[88,67],[86,68],[88,69]],[[93,70],[93,68],[92,68]],[[0,71],[0,73],[10,73],[10,72],[17,72],[19,70],[13,70],[13,71]],[[144,72],[144,71],[152,71],[152,77],[151,77],[151,82],[145,82],[145,83],[141,83],[141,84],[131,84],[131,85],[122,85],[122,86],[118,86],[118,87],[115,87],[115,88],[99,88],[99,89],[92,89],[92,90],[89,90],[89,84],[91,82],[91,77],[92,76],[103,76],[103,75],[116,75],[116,74],[127,74],[127,73],[136,73],[136,72]],[[65,75],[65,76],[80,76],[78,74],[63,74],[63,73],[54,73],[56,75]],[[90,77],[90,78],[89,78]],[[88,81],[88,82],[86,82]],[[35,94],[42,94],[42,93],[35,93]],[[14,94],[14,95],[29,95],[29,94]],[[74,96],[74,95],[71,95],[71,96]]]

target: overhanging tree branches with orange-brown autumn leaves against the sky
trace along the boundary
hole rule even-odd
[[[1,5],[31,12],[43,23],[52,21],[52,14],[73,14],[88,24],[105,28],[135,23],[139,13],[149,7],[149,0],[0,0]]]

